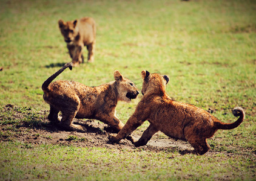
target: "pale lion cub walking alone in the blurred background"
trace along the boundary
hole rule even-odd
[[[59,20],[59,30],[67,43],[73,66],[83,63],[83,49],[88,50],[88,62],[93,62],[96,43],[96,25],[92,17],[64,22]]]

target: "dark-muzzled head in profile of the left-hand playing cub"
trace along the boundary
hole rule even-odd
[[[135,84],[128,78],[124,78],[119,71],[114,72],[115,86],[118,92],[118,100],[130,102],[140,93]]]

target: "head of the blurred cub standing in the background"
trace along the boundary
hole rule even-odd
[[[67,22],[64,22],[62,19],[59,20],[59,30],[61,30],[66,43],[72,43],[75,37],[78,36],[77,23],[77,20]]]

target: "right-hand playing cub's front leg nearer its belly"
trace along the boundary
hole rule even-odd
[[[141,138],[134,143],[135,147],[146,145],[152,136],[157,132],[158,129],[153,124],[150,124],[149,127],[147,127],[147,129],[143,132]]]

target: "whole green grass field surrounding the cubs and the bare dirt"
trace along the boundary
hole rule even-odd
[[[0,142],[0,178],[255,179],[255,9],[249,0],[1,1],[0,106],[14,104],[24,112],[18,120],[12,112],[1,112],[0,124],[10,129],[23,122],[40,124],[37,112],[49,109],[41,85],[70,61],[57,22],[83,16],[97,24],[95,62],[66,70],[56,80],[97,86],[112,81],[118,69],[141,89],[140,72],[146,69],[169,75],[167,92],[175,100],[214,109],[224,122],[233,122],[231,109],[241,106],[246,119],[209,140],[220,151],[214,156]],[[140,98],[118,103],[118,118],[126,122]],[[241,154],[244,150],[250,151]]]

